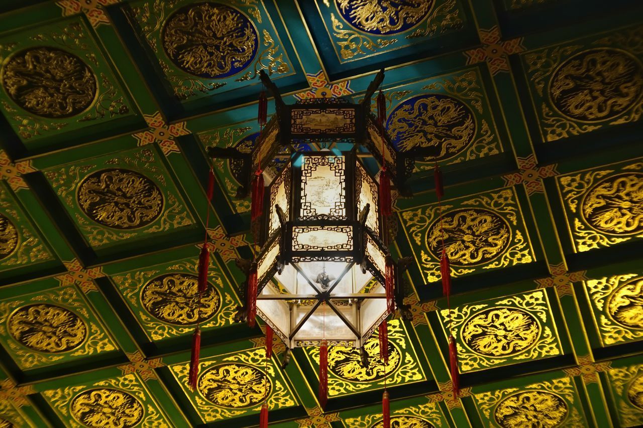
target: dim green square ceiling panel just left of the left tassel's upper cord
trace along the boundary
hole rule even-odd
[[[44,174],[93,249],[194,225],[156,148],[87,159]]]

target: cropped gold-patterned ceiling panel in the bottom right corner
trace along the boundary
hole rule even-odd
[[[607,373],[621,426],[640,426],[643,424],[643,366],[611,367]]]

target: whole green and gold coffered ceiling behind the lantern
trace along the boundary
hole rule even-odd
[[[0,426],[643,424],[643,5],[635,0],[5,0],[0,6]],[[437,146],[395,201],[411,321],[269,364],[233,322],[251,258],[235,160],[258,72],[287,103],[359,102],[381,67],[400,150]],[[269,114],[273,103],[269,102]],[[210,222],[206,230],[206,215]],[[197,391],[199,244],[215,245]],[[451,310],[449,311],[449,307]],[[457,337],[462,397],[451,393]],[[276,339],[275,339],[276,340]]]

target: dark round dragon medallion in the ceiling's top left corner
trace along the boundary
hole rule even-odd
[[[3,69],[2,84],[17,105],[52,119],[85,111],[98,91],[96,77],[82,59],[49,46],[15,53]]]

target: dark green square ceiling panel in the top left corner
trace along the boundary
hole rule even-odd
[[[0,105],[28,148],[131,122],[136,107],[111,71],[86,21],[75,16],[0,38]],[[59,82],[68,82],[68,86]]]

